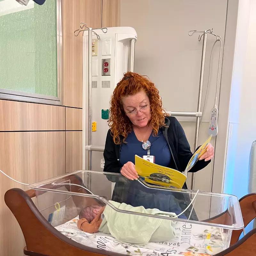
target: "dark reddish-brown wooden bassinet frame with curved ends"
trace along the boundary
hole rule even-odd
[[[72,183],[82,184],[82,180],[73,175],[70,177]],[[69,186],[67,186],[69,189]],[[73,192],[88,193],[83,188],[77,186],[72,187]],[[45,193],[40,191],[40,193]],[[38,195],[38,191],[37,191]],[[26,247],[24,254],[29,256],[123,256],[123,254],[103,251],[82,244],[79,244],[70,238],[61,234],[56,230],[39,212],[32,199],[36,196],[33,189],[23,191],[19,188],[12,188],[6,191],[4,200],[6,205],[12,211],[20,228],[23,232]],[[86,200],[88,197],[86,197]],[[86,204],[91,205],[89,201]],[[74,202],[76,206],[81,202]],[[95,202],[93,202],[95,204]],[[239,200],[244,226],[246,227],[254,218],[256,218],[256,193],[244,196]],[[84,205],[83,205],[84,207]],[[220,218],[225,219],[227,213],[217,216],[208,222],[213,223]],[[231,245],[228,249],[216,254],[215,256],[240,256],[240,255],[256,255],[256,229],[250,231],[246,236],[238,241],[243,230],[234,230],[231,237]]]

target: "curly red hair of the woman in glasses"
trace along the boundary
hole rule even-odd
[[[115,144],[121,144],[120,135],[122,135],[125,140],[128,133],[132,132],[132,123],[129,117],[125,115],[121,100],[125,96],[134,95],[141,91],[146,92],[150,101],[151,118],[148,124],[153,127],[153,135],[156,136],[159,127],[165,125],[164,120],[167,114],[162,108],[162,98],[159,96],[159,91],[156,89],[155,84],[152,83],[147,76],[127,72],[117,84],[110,100],[110,118],[108,125]]]

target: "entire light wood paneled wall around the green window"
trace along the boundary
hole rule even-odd
[[[103,8],[103,9],[102,9]],[[82,169],[83,34],[81,22],[119,26],[120,0],[62,0],[63,106],[0,100],[0,169],[33,183]],[[0,173],[0,255],[23,256],[25,241],[4,203],[10,188],[26,190]]]

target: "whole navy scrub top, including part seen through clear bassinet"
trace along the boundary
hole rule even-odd
[[[151,143],[150,155],[155,156],[155,163],[168,166],[171,161],[171,152],[163,132],[159,130],[158,135],[153,136],[152,131],[148,140]],[[127,162],[135,164],[135,155],[143,157],[148,154],[148,150],[142,148],[142,142],[137,139],[133,131],[128,134],[126,142],[127,143],[122,143],[121,145],[120,161],[122,165]],[[164,212],[174,212],[177,215],[182,212],[179,200],[177,200],[170,191],[152,191],[141,186],[140,183],[135,182],[131,182],[125,203],[133,207],[142,205],[146,209],[157,208]],[[180,215],[179,218],[187,219],[184,214]]]

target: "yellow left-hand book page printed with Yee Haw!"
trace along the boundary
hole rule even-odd
[[[169,188],[182,188],[187,176],[177,170],[151,163],[135,155],[135,170],[145,182]]]

